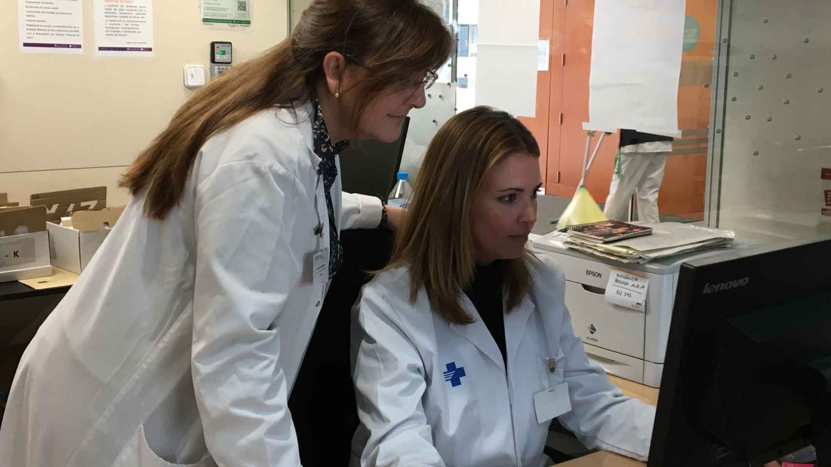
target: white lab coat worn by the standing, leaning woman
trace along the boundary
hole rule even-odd
[[[287,399],[327,288],[310,258],[329,246],[311,109],[206,142],[165,221],[130,202],[23,354],[0,465],[300,465]],[[340,189],[340,226],[377,226],[380,200]]]

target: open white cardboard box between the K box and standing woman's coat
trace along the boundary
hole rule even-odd
[[[61,225],[47,223],[49,246],[52,250],[52,264],[59,268],[81,274],[90,264],[98,247],[116,226],[124,207],[109,207],[96,211],[74,212],[71,221]]]

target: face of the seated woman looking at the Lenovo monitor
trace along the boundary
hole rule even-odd
[[[537,221],[537,190],[542,185],[538,158],[528,153],[513,153],[494,166],[471,213],[478,264],[523,255]]]

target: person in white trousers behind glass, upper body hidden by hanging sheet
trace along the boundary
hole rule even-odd
[[[658,191],[664,179],[672,138],[622,129],[605,214],[612,221],[629,220],[629,202],[637,198],[637,220],[660,222]]]

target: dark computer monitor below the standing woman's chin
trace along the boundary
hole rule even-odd
[[[386,202],[401,168],[410,117],[401,124],[401,136],[393,143],[372,139],[352,142],[341,153],[341,183],[344,192],[379,197]]]

